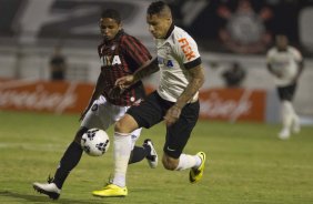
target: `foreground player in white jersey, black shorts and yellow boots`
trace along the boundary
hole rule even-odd
[[[93,191],[95,196],[125,196],[125,174],[131,151],[131,132],[149,129],[165,122],[166,135],[162,163],[166,170],[190,169],[189,180],[201,180],[205,153],[183,153],[191,132],[199,119],[199,89],[204,82],[201,57],[195,41],[172,21],[171,9],[163,1],[152,2],[147,12],[149,31],[155,38],[158,58],[142,65],[132,75],[117,81],[120,89],[128,89],[142,78],[160,70],[158,90],[139,106],[129,109],[114,126],[114,177],[103,190]]]

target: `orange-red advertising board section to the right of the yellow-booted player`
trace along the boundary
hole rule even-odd
[[[201,119],[265,121],[266,92],[248,89],[210,89],[200,92]]]

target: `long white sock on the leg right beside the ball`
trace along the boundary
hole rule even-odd
[[[113,184],[125,186],[128,163],[131,153],[131,134],[114,133],[114,178]]]

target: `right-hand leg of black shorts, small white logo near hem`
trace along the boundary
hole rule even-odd
[[[166,128],[163,151],[168,156],[173,159],[180,157],[199,119],[199,102],[186,104],[182,109],[180,119]]]

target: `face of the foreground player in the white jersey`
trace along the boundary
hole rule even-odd
[[[158,14],[148,14],[147,23],[149,26],[149,31],[155,39],[165,38],[170,27],[171,19],[165,17],[160,17]]]

